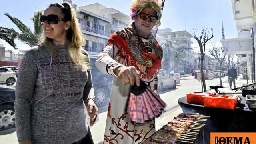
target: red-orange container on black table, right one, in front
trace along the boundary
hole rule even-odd
[[[204,96],[204,107],[226,108],[234,110],[237,106],[238,96],[210,95]]]

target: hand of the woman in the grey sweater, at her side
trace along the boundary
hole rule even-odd
[[[90,116],[90,126],[92,126],[97,118],[98,108],[94,104],[94,101],[92,99],[88,100],[86,108],[87,108],[87,112]]]

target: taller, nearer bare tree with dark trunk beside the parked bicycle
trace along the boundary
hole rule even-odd
[[[210,32],[207,30],[207,27],[204,28],[204,26],[202,27],[203,30],[202,32],[198,35],[197,37],[197,28],[193,28],[192,32],[194,39],[196,39],[196,41],[198,42],[199,48],[200,48],[200,52],[201,52],[201,57],[198,57],[199,59],[199,65],[200,65],[200,75],[201,75],[201,84],[202,84],[202,91],[203,92],[207,92],[206,91],[206,85],[205,85],[205,78],[204,78],[204,72],[203,72],[203,68],[204,68],[204,55],[205,55],[205,46],[206,46],[206,42],[208,42],[211,38],[213,38],[213,30],[212,34],[210,34]]]

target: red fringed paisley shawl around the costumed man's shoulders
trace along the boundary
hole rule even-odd
[[[151,32],[148,37],[153,44],[152,49],[156,52],[153,57],[149,55],[144,42],[138,36],[134,22],[129,27],[112,34],[107,44],[116,45],[120,51],[118,61],[122,58],[122,64],[135,66],[140,76],[146,80],[160,72],[163,57],[163,50]]]

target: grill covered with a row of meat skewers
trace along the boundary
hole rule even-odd
[[[208,118],[198,113],[181,113],[142,144],[199,144],[202,138],[204,143],[204,123]]]

